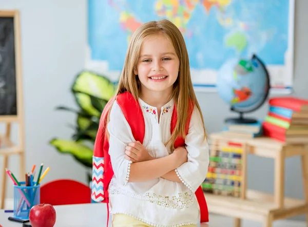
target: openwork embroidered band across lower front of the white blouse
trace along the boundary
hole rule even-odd
[[[124,188],[119,187],[113,181],[110,182],[109,195],[127,195],[140,200],[149,201],[151,203],[156,203],[157,205],[185,210],[190,207],[194,202],[196,202],[195,194],[191,192],[178,193],[176,196],[161,196],[155,193],[145,193],[137,194],[133,192],[126,191]]]

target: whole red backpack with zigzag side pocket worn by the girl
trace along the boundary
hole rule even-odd
[[[145,124],[142,109],[139,102],[134,99],[132,94],[128,91],[119,94],[117,97],[117,103],[123,111],[124,117],[127,120],[134,139],[143,143]],[[113,177],[113,170],[111,166],[110,156],[108,154],[109,142],[107,138],[107,116],[110,105],[113,104],[113,98],[106,104],[100,119],[100,125],[95,139],[93,148],[93,172],[92,172],[92,194],[91,198],[96,202],[106,202],[109,219],[109,195],[108,187]],[[189,115],[185,126],[185,133],[188,133],[189,122],[192,113],[192,105],[189,108]],[[177,123],[177,111],[174,108],[171,117],[170,131],[175,129]],[[178,137],[175,141],[174,147],[185,146],[185,140],[182,137]],[[204,198],[204,194],[201,186],[198,187],[195,192],[199,206],[201,222],[208,222],[208,209]],[[107,220],[108,224],[108,220]]]

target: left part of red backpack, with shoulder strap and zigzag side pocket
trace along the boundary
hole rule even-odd
[[[132,135],[136,141],[143,143],[145,124],[142,109],[138,100],[134,99],[132,94],[124,92],[117,97],[117,103],[123,111],[123,115],[130,125]],[[114,175],[109,151],[109,142],[107,138],[107,116],[110,105],[113,104],[114,97],[106,104],[95,139],[93,149],[93,172],[92,172],[92,199],[97,202],[105,201],[107,204],[107,226],[109,221],[109,183]]]

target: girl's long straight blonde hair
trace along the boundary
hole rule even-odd
[[[149,35],[159,33],[164,34],[171,42],[180,60],[178,79],[176,80],[173,87],[174,89],[172,91],[172,98],[174,98],[177,106],[178,120],[170,139],[166,142],[166,144],[168,144],[171,141],[170,148],[172,149],[174,148],[174,143],[178,136],[183,138],[186,137],[185,125],[188,117],[189,102],[198,108],[203,123],[203,130],[205,135],[204,139],[207,138],[201,108],[197,101],[191,82],[188,52],[186,49],[185,41],[182,33],[174,24],[168,20],[151,21],[141,25],[133,33],[127,49],[124,67],[115,94],[118,95],[128,91],[136,100],[139,99],[140,81],[139,78],[134,74],[134,68],[137,67],[140,49],[144,39]]]

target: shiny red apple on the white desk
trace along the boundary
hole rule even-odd
[[[55,210],[50,204],[32,206],[29,221],[32,227],[53,227],[56,220]]]

